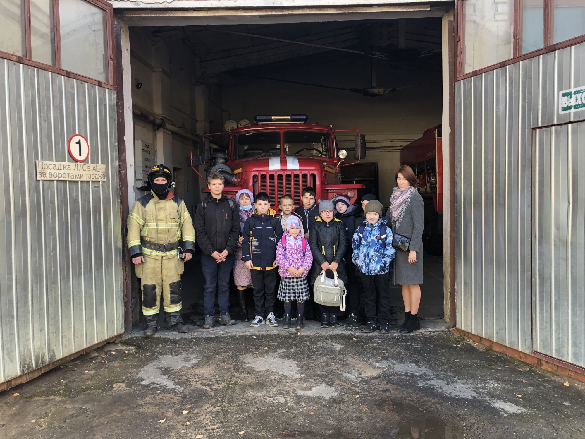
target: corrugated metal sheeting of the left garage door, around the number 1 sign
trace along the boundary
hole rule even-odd
[[[70,162],[67,140],[106,181],[39,181]],[[0,60],[0,383],[123,331],[116,94]]]

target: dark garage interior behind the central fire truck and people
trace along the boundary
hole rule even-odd
[[[343,183],[364,185],[357,205],[371,193],[388,208],[401,149],[442,122],[441,48],[438,16],[130,27],[135,142],[155,143],[157,157],[172,161],[193,213],[205,184],[185,157],[198,153],[203,134],[253,124],[256,115],[306,114],[311,124],[366,135],[366,157],[341,167]],[[353,133],[336,133],[336,140],[339,148],[353,147]],[[198,170],[205,176],[204,167]],[[442,229],[440,215],[432,221]],[[424,255],[419,314],[441,318],[443,262],[440,251],[432,253]],[[201,315],[197,258],[184,277],[184,309]],[[392,291],[401,321],[401,287]],[[235,295],[230,303],[237,316]]]

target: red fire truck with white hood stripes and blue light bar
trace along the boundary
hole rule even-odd
[[[268,193],[271,207],[277,210],[285,194],[300,205],[301,190],[307,186],[315,188],[318,199],[347,194],[355,202],[357,190],[363,185],[341,184],[340,167],[347,151],[340,149],[335,133],[355,132],[354,157],[359,162],[366,155],[366,138],[359,131],[307,124],[307,115],[256,116],[254,122],[256,125],[229,132],[206,134],[203,154],[187,157],[188,164],[193,169],[205,164],[207,175],[223,174],[223,193],[227,196],[235,197],[242,188],[253,194]],[[212,148],[221,143],[216,140],[221,135],[229,136],[227,145]],[[208,191],[207,187],[204,191]]]

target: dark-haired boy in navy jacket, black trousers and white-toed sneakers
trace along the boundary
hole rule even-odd
[[[256,317],[250,326],[255,328],[267,323],[275,327],[278,326],[274,317],[278,280],[276,243],[283,236],[283,228],[274,216],[276,211],[270,208],[270,197],[266,192],[254,196],[254,207],[256,210],[244,223],[242,242],[242,261],[250,269],[254,285]]]

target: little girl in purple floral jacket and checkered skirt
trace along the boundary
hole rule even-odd
[[[301,221],[294,215],[287,218],[283,238],[276,245],[276,262],[280,273],[278,299],[284,301],[283,328],[291,326],[292,301],[297,301],[297,330],[305,327],[302,318],[305,300],[309,299],[307,275],[313,263],[313,255],[307,239],[301,236]]]

